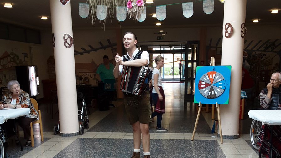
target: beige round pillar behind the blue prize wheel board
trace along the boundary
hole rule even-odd
[[[229,104],[221,105],[221,128],[223,138],[239,138],[239,108],[242,79],[244,38],[241,23],[245,23],[246,0],[227,0],[224,3],[221,65],[231,65]],[[225,37],[225,24],[231,23],[233,33]],[[228,29],[230,32],[230,28]]]

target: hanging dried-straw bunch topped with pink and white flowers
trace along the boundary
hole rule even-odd
[[[144,11],[144,2],[143,0],[128,0],[127,1],[127,13],[129,14],[130,19],[133,17],[136,21],[137,18],[141,18],[141,14]]]

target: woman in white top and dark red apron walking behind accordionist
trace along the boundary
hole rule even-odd
[[[152,99],[155,105],[155,111],[152,113],[152,117],[157,116],[156,131],[167,131],[161,126],[162,115],[165,113],[165,94],[162,88],[162,77],[159,69],[164,65],[164,58],[160,55],[155,57],[156,67],[152,71]]]

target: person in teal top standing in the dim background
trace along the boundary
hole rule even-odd
[[[114,95],[116,95],[116,81],[113,75],[114,66],[109,63],[107,55],[103,56],[103,63],[99,65],[96,70],[96,77],[99,82],[102,82],[103,91],[107,91],[109,97],[109,106],[115,108],[116,106],[112,104]]]

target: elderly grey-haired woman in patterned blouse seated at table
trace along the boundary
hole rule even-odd
[[[38,112],[33,107],[30,101],[28,93],[20,89],[18,81],[12,80],[7,84],[9,93],[5,94],[0,102],[0,109],[3,108],[30,108],[30,114],[22,116],[18,119],[19,125],[23,128],[24,138],[27,139],[25,146],[31,144],[30,140],[30,122],[37,120]],[[8,121],[9,122],[9,121]],[[9,124],[9,123],[8,123]],[[11,126],[11,125],[10,125]],[[13,127],[13,126],[12,126]],[[8,127],[11,129],[10,127]],[[7,130],[9,130],[7,129]],[[16,140],[16,144],[19,146],[19,140]]]

